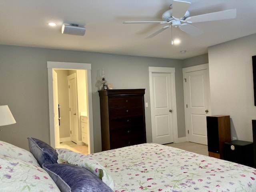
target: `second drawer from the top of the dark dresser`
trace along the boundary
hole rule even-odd
[[[110,118],[114,117],[125,117],[125,116],[137,116],[143,114],[142,106],[138,107],[118,107],[110,108]]]

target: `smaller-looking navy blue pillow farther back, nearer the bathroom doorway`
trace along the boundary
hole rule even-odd
[[[54,148],[39,139],[29,137],[28,146],[39,165],[57,163],[58,153]]]

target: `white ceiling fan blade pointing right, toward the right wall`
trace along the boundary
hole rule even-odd
[[[214,13],[188,17],[186,18],[186,22],[197,23],[197,22],[215,21],[215,20],[233,19],[233,18],[236,18],[236,9],[230,9],[225,11],[219,11]]]

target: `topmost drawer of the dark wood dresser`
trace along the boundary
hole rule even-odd
[[[141,96],[110,97],[108,102],[110,107],[141,106],[143,103]]]

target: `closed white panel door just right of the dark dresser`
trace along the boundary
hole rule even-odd
[[[152,72],[150,74],[150,109],[152,142],[166,144],[173,142],[173,127],[176,124],[176,105],[173,96],[171,73]],[[174,91],[175,92],[175,91]]]

